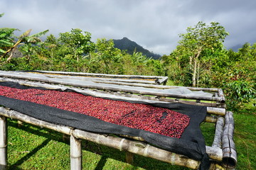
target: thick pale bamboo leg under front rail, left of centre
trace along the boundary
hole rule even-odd
[[[70,169],[82,170],[82,142],[70,136]]]

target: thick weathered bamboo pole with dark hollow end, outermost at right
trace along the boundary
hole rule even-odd
[[[234,132],[233,113],[228,111],[225,115],[225,126],[223,130],[223,165],[227,168],[234,168],[237,164],[237,153],[235,151],[235,142],[233,140]]]

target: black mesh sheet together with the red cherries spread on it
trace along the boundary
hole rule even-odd
[[[19,113],[87,132],[142,137],[151,145],[201,161],[201,167],[209,166],[199,128],[206,118],[205,106],[113,101],[6,81],[0,81],[0,89],[0,105]]]

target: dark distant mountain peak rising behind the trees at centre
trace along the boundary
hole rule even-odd
[[[142,52],[146,57],[152,57],[155,60],[158,60],[161,55],[156,55],[153,52],[149,52],[149,50],[144,49],[144,47],[138,45],[136,42],[129,40],[128,38],[122,38],[121,40],[113,40],[114,47],[120,50],[127,50],[128,54],[132,55],[134,50],[136,52]]]

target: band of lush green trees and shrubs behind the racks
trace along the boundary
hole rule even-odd
[[[4,14],[1,14],[3,16]],[[228,36],[220,23],[198,22],[180,34],[176,49],[160,60],[142,52],[132,54],[114,47],[105,38],[92,42],[91,34],[78,28],[40,37],[48,30],[30,35],[27,30],[19,37],[14,28],[0,28],[0,69],[55,70],[105,74],[144,74],[169,76],[183,86],[218,87],[225,89],[229,106],[240,107],[255,98],[256,43],[245,43],[238,52],[226,50]],[[14,55],[22,52],[22,57]]]

